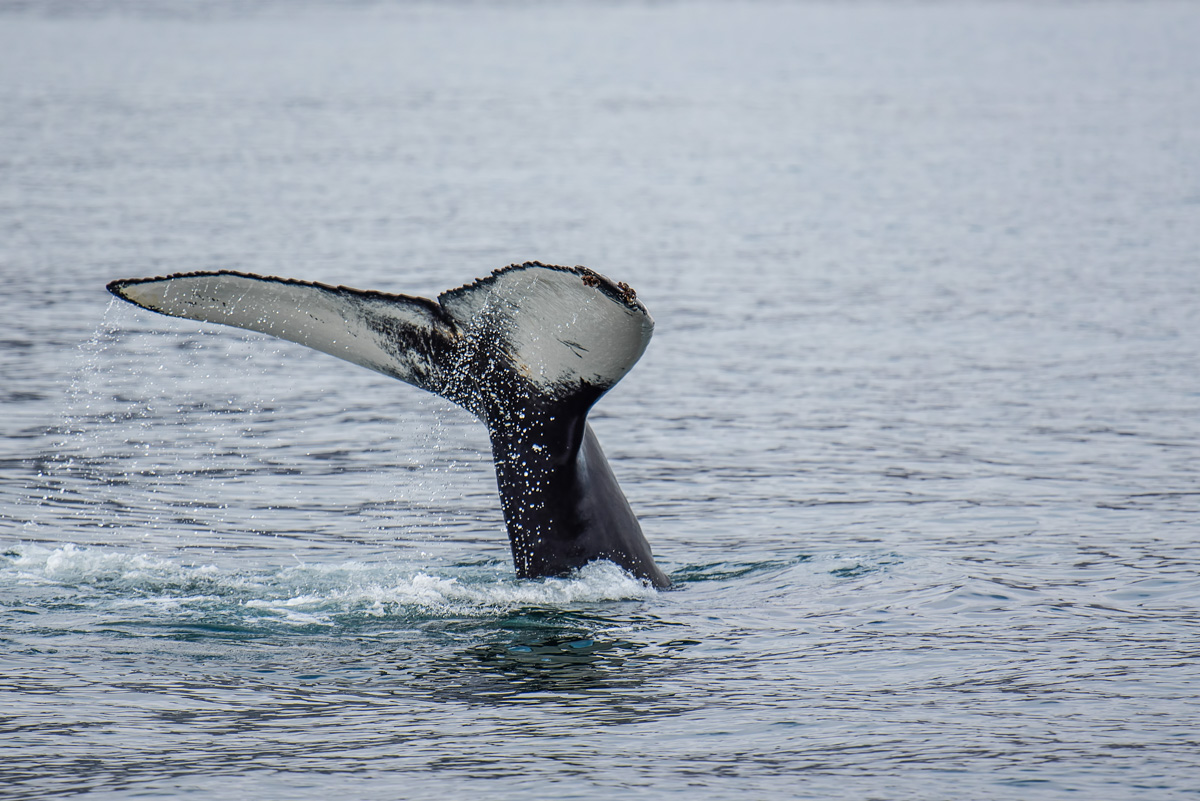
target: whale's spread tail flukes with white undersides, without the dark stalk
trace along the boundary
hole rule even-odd
[[[584,267],[512,265],[438,301],[230,271],[116,281],[144,308],[296,342],[438,391],[448,373],[500,361],[542,392],[606,390],[654,330],[628,287]]]

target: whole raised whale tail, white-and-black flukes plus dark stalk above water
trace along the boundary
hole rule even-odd
[[[296,342],[452,401],[491,435],[518,577],[606,559],[670,586],[587,422],[654,331],[628,284],[528,261],[436,301],[228,270],[126,278],[108,290],[161,314]]]

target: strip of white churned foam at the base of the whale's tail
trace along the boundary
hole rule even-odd
[[[486,616],[526,607],[653,598],[653,588],[595,562],[566,578],[517,580],[506,568],[394,562],[304,564],[262,571],[118,548],[22,544],[0,559],[7,584],[58,588],[110,608],[233,614],[301,626],[412,616]],[[55,595],[61,598],[61,594]]]

